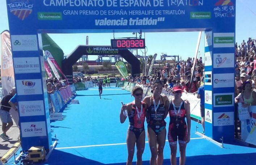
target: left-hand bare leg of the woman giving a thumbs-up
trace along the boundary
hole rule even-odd
[[[127,131],[127,137],[126,137],[126,144],[127,144],[127,151],[128,151],[128,158],[126,165],[132,165],[133,164],[133,155],[134,155],[134,148],[136,143],[136,137],[133,131],[128,130]]]

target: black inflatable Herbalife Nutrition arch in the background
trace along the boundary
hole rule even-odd
[[[140,75],[140,61],[128,49],[111,49],[111,46],[79,45],[62,61],[62,71],[68,82],[72,82],[72,66],[82,55],[121,55],[131,64],[131,75]]]

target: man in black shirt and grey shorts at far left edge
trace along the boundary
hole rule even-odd
[[[0,137],[5,140],[9,141],[12,140],[12,138],[8,137],[6,132],[11,128],[13,125],[10,109],[11,105],[9,104],[10,99],[13,97],[13,95],[16,93],[16,88],[13,87],[11,89],[11,92],[4,96],[4,98],[1,100],[1,106],[0,106],[0,119],[2,122],[2,131],[3,133],[0,135]]]

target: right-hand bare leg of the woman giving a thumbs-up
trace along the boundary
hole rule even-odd
[[[145,130],[142,131],[142,133],[139,135],[139,138],[136,142],[137,147],[137,163],[136,165],[142,165],[142,154],[144,152],[145,148]]]

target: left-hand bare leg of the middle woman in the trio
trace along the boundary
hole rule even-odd
[[[151,151],[151,158],[150,158],[150,165],[156,165],[156,157],[157,157],[157,138],[154,130],[152,130],[149,126],[147,127],[147,137],[148,137],[148,144]]]

